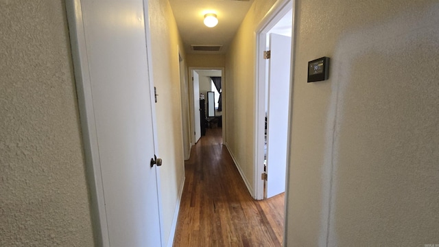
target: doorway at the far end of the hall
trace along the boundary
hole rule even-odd
[[[224,140],[225,137],[225,128],[223,116],[225,115],[225,104],[222,104],[222,108],[218,108],[215,105],[214,117],[207,117],[207,100],[208,100],[208,92],[218,91],[217,87],[213,85],[211,78],[219,77],[221,78],[221,86],[219,88],[218,93],[222,96],[222,102],[224,103],[226,91],[226,85],[224,83],[224,68],[223,67],[189,67],[189,74],[191,78],[189,78],[189,106],[190,106],[190,119],[191,119],[191,145],[195,145],[197,141],[202,137],[206,128],[206,118],[208,120],[215,119],[217,126],[222,126],[222,137]],[[214,99],[217,99],[219,95],[214,95]],[[203,114],[204,113],[204,114]],[[210,123],[209,123],[210,124]]]

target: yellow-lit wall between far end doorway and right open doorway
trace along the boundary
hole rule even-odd
[[[254,31],[274,0],[255,0],[226,54],[226,143],[244,173],[254,185],[254,78],[256,38]],[[254,188],[252,188],[254,190]],[[251,191],[253,193],[253,191]]]

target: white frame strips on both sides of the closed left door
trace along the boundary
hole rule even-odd
[[[91,193],[91,217],[93,234],[95,235],[96,246],[110,246],[108,236],[108,223],[104,202],[104,185],[102,183],[101,162],[99,158],[99,147],[97,145],[97,132],[95,124],[95,113],[91,94],[91,78],[88,71],[86,37],[84,23],[82,22],[82,5],[80,0],[66,1],[67,20],[69,23],[69,34],[75,73],[75,85],[78,93],[78,108],[84,143],[84,156],[86,162],[86,178]],[[143,12],[145,21],[145,37],[147,45],[148,77],[150,80],[151,99],[154,99],[154,80],[152,75],[152,49],[150,35],[150,20],[148,12],[148,1],[143,0]],[[154,152],[158,155],[158,140],[156,130],[156,108],[151,104]],[[157,193],[161,198],[160,169],[156,169]],[[158,200],[160,232],[163,233],[163,212],[161,211],[161,200]],[[161,242],[164,243],[164,236],[161,234]]]

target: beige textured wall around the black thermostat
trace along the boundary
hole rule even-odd
[[[438,1],[296,2],[287,246],[439,244]]]

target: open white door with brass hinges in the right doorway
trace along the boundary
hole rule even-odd
[[[285,192],[291,38],[270,34],[268,82],[267,198]]]

